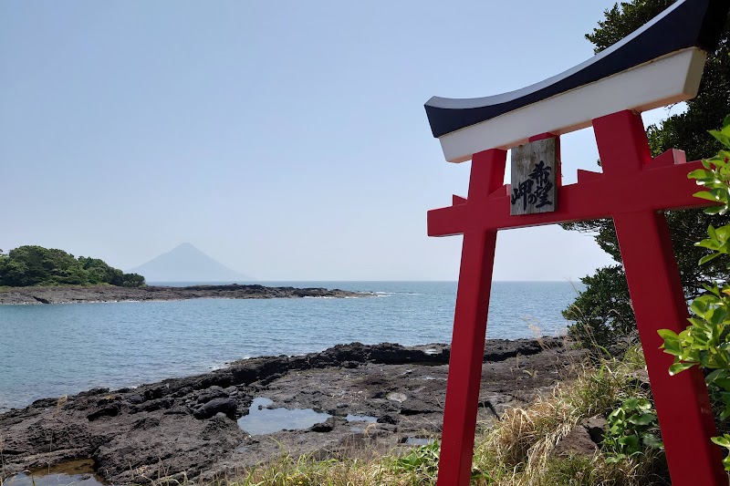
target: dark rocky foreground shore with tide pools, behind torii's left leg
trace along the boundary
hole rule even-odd
[[[572,377],[583,354],[559,338],[487,341],[479,419],[498,419]],[[37,400],[0,414],[0,476],[90,458],[115,484],[207,481],[275,459],[282,448],[325,459],[411,447],[440,434],[449,356],[446,345],[353,343],[245,359],[139,388]],[[255,398],[270,404],[251,407]],[[287,410],[308,409],[328,415],[287,430]],[[284,430],[251,435],[239,426],[246,417],[265,420],[266,410],[284,414],[275,419]]]

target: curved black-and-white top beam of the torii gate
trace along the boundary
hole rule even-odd
[[[540,133],[586,128],[624,109],[694,98],[728,10],[730,0],[680,0],[586,62],[527,88],[485,98],[433,97],[425,104],[433,136],[446,160],[462,162]]]

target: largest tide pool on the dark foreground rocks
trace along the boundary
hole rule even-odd
[[[312,408],[268,408],[274,402],[254,398],[248,415],[238,419],[238,427],[251,435],[273,434],[281,430],[304,430],[332,417]]]

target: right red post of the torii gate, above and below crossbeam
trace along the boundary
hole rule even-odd
[[[607,175],[633,177],[650,159],[641,116],[628,111],[615,113],[593,120],[593,128],[600,160],[610,168]],[[686,166],[676,169],[687,173]],[[710,440],[717,433],[703,372],[694,367],[670,377],[667,368],[673,357],[659,348],[663,341],[657,330],[669,328],[679,333],[689,317],[669,227],[663,213],[636,209],[639,211],[614,212],[613,222],[672,483],[727,485],[720,450]]]

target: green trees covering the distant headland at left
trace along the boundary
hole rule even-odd
[[[4,254],[0,250],[0,285],[111,284],[124,287],[144,285],[139,274],[125,274],[99,258],[88,258],[42,246],[19,246]]]

